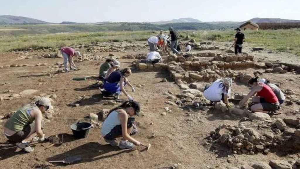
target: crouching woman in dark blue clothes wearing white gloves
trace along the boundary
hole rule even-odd
[[[125,84],[128,84],[131,87],[132,92],[135,91],[134,87],[127,80],[127,77],[130,75],[130,68],[125,68],[122,70],[117,69],[105,79],[103,87],[106,92],[108,92],[110,95],[113,95],[114,97],[118,97],[122,91],[129,100],[134,100],[124,89]]]

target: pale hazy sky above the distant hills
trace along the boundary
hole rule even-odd
[[[254,17],[300,20],[299,0],[2,0],[0,15],[51,23],[155,22],[191,17],[203,22]]]

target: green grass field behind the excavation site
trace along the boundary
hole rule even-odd
[[[47,32],[43,34],[34,33],[37,30],[43,30],[44,26],[50,26],[50,28],[46,29]],[[0,26],[0,29],[26,29],[0,31],[0,51],[26,50],[28,48],[37,49],[40,47],[58,48],[65,45],[90,44],[91,42],[146,41],[150,36],[158,34],[158,31],[109,32],[94,29],[90,31],[96,32],[86,32],[90,28],[88,25],[79,25],[76,32],[52,33],[57,32],[55,29],[58,29],[59,26],[61,25]],[[34,29],[30,29],[30,27],[34,27]],[[80,29],[85,32],[80,32]],[[49,30],[52,30],[52,32]],[[179,31],[180,37],[184,38],[186,35],[196,39],[197,42],[223,42],[233,41],[235,32],[233,30]],[[246,41],[255,46],[261,46],[272,51],[289,52],[300,56],[300,29],[247,31],[245,32],[245,36]]]

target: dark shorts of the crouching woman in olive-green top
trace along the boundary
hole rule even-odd
[[[42,129],[44,129],[45,121],[42,120]],[[12,136],[6,136],[10,142],[19,143],[29,137],[31,134],[35,133],[35,121],[31,124],[28,124],[23,128],[22,131],[19,131]]]

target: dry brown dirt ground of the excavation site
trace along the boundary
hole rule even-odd
[[[224,44],[222,44],[224,45]],[[224,46],[224,48],[227,48]],[[84,53],[84,50],[81,50]],[[199,51],[195,51],[199,52]],[[214,52],[220,52],[214,50]],[[31,52],[29,52],[30,54]],[[147,53],[147,48],[140,51],[127,50],[127,53],[110,52],[121,58],[125,54]],[[100,52],[98,55],[106,57],[109,53]],[[264,57],[261,53],[252,53],[255,57]],[[61,58],[54,59],[32,59],[18,60],[20,54],[3,53],[0,55],[0,65],[11,64],[29,64],[37,63],[57,63],[62,62]],[[295,57],[296,58],[296,57]],[[209,58],[211,59],[211,58]],[[207,59],[207,60],[209,60]],[[277,56],[268,54],[268,59],[277,60]],[[119,59],[121,67],[131,66],[132,59]],[[289,60],[283,61],[288,62]],[[169,78],[168,72],[139,72],[132,67],[133,74],[129,80],[136,88],[132,93],[129,88],[127,91],[134,99],[142,105],[143,116],[137,117],[138,134],[134,136],[142,143],[151,143],[151,149],[146,152],[140,150],[143,147],[137,147],[136,150],[120,150],[109,146],[100,135],[100,125],[95,125],[91,129],[88,138],[76,140],[70,129],[70,125],[76,121],[88,121],[85,117],[90,112],[98,113],[101,109],[111,109],[116,105],[97,104],[102,100],[100,91],[97,88],[90,87],[96,80],[88,79],[86,81],[72,81],[72,77],[93,75],[98,73],[99,65],[102,60],[84,61],[76,63],[80,69],[75,72],[58,73],[49,75],[50,66],[27,66],[10,67],[0,69],[0,94],[19,93],[26,89],[35,89],[38,92],[14,98],[12,100],[0,101],[0,115],[7,115],[15,111],[22,105],[32,100],[32,96],[39,94],[56,94],[57,98],[53,102],[55,113],[50,122],[46,123],[44,133],[49,135],[64,135],[64,143],[61,146],[53,146],[46,149],[50,143],[38,143],[33,147],[32,153],[24,153],[12,145],[1,134],[0,137],[0,164],[1,168],[227,168],[230,166],[239,167],[241,164],[256,161],[265,161],[268,163],[271,159],[284,159],[286,161],[295,161],[298,158],[296,153],[287,154],[281,150],[275,150],[268,155],[258,153],[256,155],[233,155],[226,147],[221,147],[218,153],[209,151],[203,146],[203,140],[210,131],[220,124],[236,125],[240,118],[224,118],[224,113],[217,111],[202,111],[191,108],[181,109],[179,106],[168,105],[165,92],[170,91],[174,94],[181,93],[178,86]],[[255,69],[242,70],[253,74]],[[282,82],[280,88],[291,89],[299,96],[299,75],[292,72],[286,74],[264,74],[262,77],[268,78],[274,83]],[[161,78],[167,78],[168,82],[161,82]],[[286,79],[293,78],[294,81]],[[5,85],[2,85],[4,84]],[[144,85],[139,88],[139,85]],[[247,93],[249,88],[243,84],[234,83],[232,93]],[[85,96],[79,107],[68,106]],[[124,98],[122,96],[121,98]],[[165,112],[164,108],[169,107],[171,112],[167,115],[161,115]],[[296,104],[292,106],[283,106],[279,112],[284,117],[299,110]],[[276,118],[276,117],[275,117]],[[7,119],[1,119],[0,131],[3,131],[3,125]],[[62,165],[50,164],[49,160],[59,160],[72,155],[82,155],[83,160],[76,164]]]

